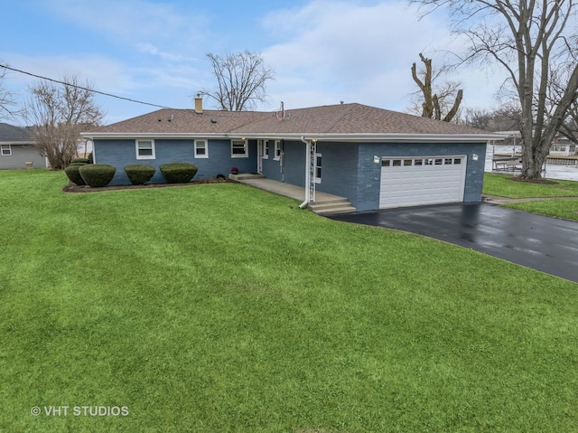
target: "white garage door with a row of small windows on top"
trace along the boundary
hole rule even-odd
[[[381,158],[379,209],[463,202],[466,156]]]

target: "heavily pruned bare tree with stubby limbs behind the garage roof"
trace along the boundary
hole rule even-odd
[[[420,89],[423,101],[421,102],[421,109],[418,108],[418,103],[415,102],[414,108],[410,108],[410,111],[416,112],[419,110],[424,118],[435,118],[444,122],[451,122],[458,114],[461,99],[463,98],[463,90],[458,89],[461,84],[455,81],[444,81],[436,87],[434,92],[434,81],[444,72],[447,72],[448,67],[443,66],[438,71],[433,72],[432,59],[424,57],[421,52],[419,58],[424,63],[424,69],[417,71],[415,63],[412,64],[412,78]],[[451,102],[452,99],[453,103]]]

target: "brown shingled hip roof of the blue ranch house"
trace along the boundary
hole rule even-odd
[[[438,137],[440,141],[496,139],[488,131],[421,118],[383,108],[352,103],[282,112],[163,108],[136,118],[83,133],[99,138],[112,136],[226,136],[281,137],[340,140],[417,139]]]

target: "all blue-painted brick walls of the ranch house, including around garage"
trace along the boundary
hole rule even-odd
[[[200,137],[202,138],[202,137]],[[95,140],[95,163],[117,167],[111,184],[130,184],[124,166],[130,164],[154,165],[157,173],[151,183],[163,183],[159,165],[186,162],[197,165],[195,179],[211,178],[218,174],[227,176],[233,166],[240,173],[256,173],[257,142],[249,140],[247,158],[232,158],[230,140],[208,140],[209,158],[194,157],[192,139],[155,139],[155,159],[136,159],[134,139]],[[284,169],[274,159],[275,145],[268,143],[269,158],[263,160],[263,174],[269,179],[305,185],[305,145],[301,141],[282,142]],[[374,155],[382,156],[437,156],[467,155],[464,202],[480,202],[483,186],[485,144],[411,144],[411,143],[325,143],[317,144],[322,154],[322,183],[317,190],[346,197],[358,211],[379,208],[381,164],[373,162]],[[473,154],[479,156],[473,160]]]

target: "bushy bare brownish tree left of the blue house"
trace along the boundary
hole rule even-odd
[[[104,118],[88,82],[80,85],[76,76],[62,81],[65,84],[40,80],[30,87],[25,108],[26,118],[34,126],[36,146],[53,170],[70,164],[81,143],[80,132],[97,126]]]

